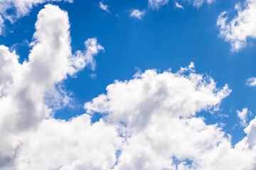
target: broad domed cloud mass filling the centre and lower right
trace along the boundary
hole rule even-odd
[[[198,118],[200,111],[218,109],[230,89],[216,88],[193,66],[177,73],[137,73],[85,103],[88,114],[102,113],[102,120],[120,127],[125,142],[114,169],[255,169],[255,123],[232,147],[218,125]]]

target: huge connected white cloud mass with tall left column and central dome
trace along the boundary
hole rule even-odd
[[[253,170],[256,119],[234,147],[218,124],[198,113],[214,113],[231,90],[196,74],[194,65],[173,73],[154,69],[129,81],[114,81],[85,103],[85,114],[56,120],[54,108],[68,102],[63,79],[90,64],[103,47],[95,38],[87,50],[71,53],[68,13],[46,5],[38,13],[33,49],[18,63],[0,46],[0,168]],[[92,123],[91,116],[102,118]]]

